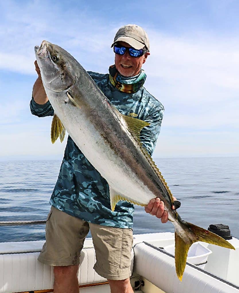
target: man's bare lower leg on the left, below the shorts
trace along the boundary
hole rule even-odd
[[[78,293],[78,265],[54,267],[54,293]],[[127,291],[126,291],[127,292]],[[131,291],[129,291],[131,292]]]

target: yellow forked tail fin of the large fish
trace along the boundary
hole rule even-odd
[[[180,281],[185,270],[188,250],[194,242],[203,241],[235,250],[228,241],[208,230],[182,220],[180,220],[180,226],[183,226],[180,233],[175,228],[175,267]]]

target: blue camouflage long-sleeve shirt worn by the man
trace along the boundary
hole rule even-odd
[[[150,123],[150,126],[141,131],[141,142],[148,153],[152,154],[160,133],[163,105],[143,86],[135,93],[125,93],[111,84],[109,74],[92,71],[88,71],[88,74],[121,114]],[[30,109],[38,117],[54,115],[49,101],[39,105],[32,98]],[[114,212],[111,211],[107,181],[91,165],[70,136],[50,204],[93,224],[133,228],[133,204],[119,201]]]

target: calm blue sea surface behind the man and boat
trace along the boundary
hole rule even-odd
[[[208,228],[227,224],[239,238],[239,157],[155,159],[180,216]],[[61,161],[0,162],[0,221],[45,220]],[[0,226],[0,242],[44,240],[44,225]],[[173,232],[173,224],[136,207],[134,234]]]

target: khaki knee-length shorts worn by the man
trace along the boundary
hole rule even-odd
[[[96,251],[94,270],[109,280],[130,277],[132,229],[88,223],[55,207],[51,207],[46,220],[46,242],[38,260],[52,266],[79,265],[89,229]]]

